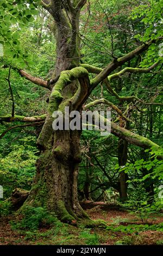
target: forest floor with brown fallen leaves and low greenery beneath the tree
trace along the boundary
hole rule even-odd
[[[163,245],[163,215],[153,215],[147,223],[105,203],[82,204],[92,220],[102,219],[107,226],[85,228],[58,222],[38,230],[15,230],[12,222],[20,216],[0,218],[0,245]]]

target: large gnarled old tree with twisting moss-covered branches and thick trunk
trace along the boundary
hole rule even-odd
[[[114,56],[112,52],[110,56],[112,60],[104,68],[97,68],[85,63],[81,64],[80,41],[82,35],[80,34],[80,12],[86,3],[86,0],[41,1],[43,8],[53,18],[52,31],[57,41],[55,69],[51,80],[36,78],[22,69],[18,71],[24,78],[49,90],[47,115],[33,117],[17,116],[12,108],[12,115],[0,117],[1,122],[19,121],[37,125],[38,122],[45,121],[37,139],[37,146],[41,151],[41,156],[37,160],[36,176],[25,204],[46,206],[49,211],[57,213],[62,221],[69,223],[74,221],[74,219],[87,217],[79,205],[77,193],[78,165],[81,161],[80,131],[54,131],[52,128],[53,112],[60,110],[64,113],[65,106],[69,106],[71,111],[81,111],[97,104],[106,104],[117,112],[120,122],[126,123],[129,121],[129,118],[125,112],[123,113],[118,106],[104,98],[95,100],[85,106],[83,105],[91,92],[102,82],[105,84],[108,92],[115,96],[120,103],[145,103],[136,96],[119,96],[110,83],[113,79],[118,79],[126,73],[137,75],[150,73],[151,70],[160,65],[160,62],[156,61],[150,67],[122,68],[123,64],[130,62],[135,56],[139,56],[148,50],[152,44],[159,43],[160,38],[148,40],[121,57]],[[120,68],[121,70],[117,70]],[[115,70],[116,73],[113,73]],[[96,76],[93,76],[91,79],[90,74],[96,74]],[[156,103],[146,104],[152,105]],[[106,122],[106,120],[104,121]],[[130,144],[142,148],[159,148],[159,145],[151,140],[134,134],[124,127],[126,126],[119,126],[115,122],[111,122],[111,133]]]

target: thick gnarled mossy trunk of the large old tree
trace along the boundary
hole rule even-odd
[[[82,8],[82,5],[80,7]],[[53,16],[55,27],[57,27],[57,31],[54,29],[57,40],[57,59],[53,75],[55,80],[62,71],[79,66],[80,9],[62,6],[59,0],[51,1],[51,7],[45,4],[45,8]],[[61,221],[67,223],[71,223],[74,219],[88,217],[79,205],[77,194],[78,164],[81,160],[80,134],[77,130],[54,131],[52,114],[55,110],[60,110],[64,114],[65,106],[70,106],[70,109],[74,110],[71,98],[78,86],[77,79],[71,83],[68,82],[65,87],[60,88],[59,82],[53,86],[46,121],[37,140],[42,153],[37,160],[36,176],[25,203],[45,206],[49,211],[57,214]]]

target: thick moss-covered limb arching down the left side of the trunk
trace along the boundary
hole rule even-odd
[[[88,72],[83,67],[77,67],[73,68],[71,70],[65,70],[62,71],[60,74],[60,77],[58,81],[56,82],[55,86],[53,87],[51,96],[49,98],[48,103],[48,114],[46,117],[45,124],[43,125],[43,128],[41,130],[41,133],[39,135],[39,138],[37,140],[37,145],[44,150],[46,148],[47,142],[49,138],[51,137],[51,134],[53,132],[52,123],[53,123],[53,117],[52,114],[54,111],[57,111],[59,108],[59,105],[62,101],[62,91],[64,88],[71,84],[73,80],[85,78],[85,76],[88,76]]]

